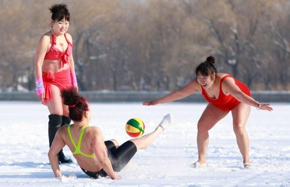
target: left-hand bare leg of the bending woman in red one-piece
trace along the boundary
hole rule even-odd
[[[222,118],[224,118],[229,111],[221,110],[214,104],[209,103],[202,113],[197,123],[197,148],[198,148],[198,162],[204,164],[206,159],[206,151],[209,144],[208,131]]]

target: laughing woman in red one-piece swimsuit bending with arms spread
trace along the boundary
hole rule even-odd
[[[258,110],[273,110],[269,104],[261,104],[251,97],[249,88],[233,76],[217,73],[214,66],[215,58],[207,57],[207,61],[196,67],[197,78],[191,80],[183,88],[174,91],[160,99],[144,102],[143,105],[156,105],[172,102],[189,96],[196,91],[203,94],[209,102],[197,124],[198,161],[193,167],[206,167],[206,150],[209,143],[208,131],[229,111],[233,117],[234,133],[237,144],[243,156],[244,167],[250,167],[249,138],[245,125],[250,114],[250,106]]]

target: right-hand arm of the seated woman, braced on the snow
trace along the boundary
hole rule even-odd
[[[99,128],[94,127],[96,130],[94,132],[94,136],[92,138],[92,149],[100,162],[101,167],[104,171],[110,176],[111,179],[118,179],[115,174],[111,161],[108,158],[107,147],[105,146],[105,142],[103,139],[102,132]]]

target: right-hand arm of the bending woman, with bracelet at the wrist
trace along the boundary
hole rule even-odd
[[[222,83],[222,87],[225,91],[234,96],[234,98],[236,98],[239,102],[251,105],[253,107],[257,107],[262,110],[273,110],[272,107],[269,106],[270,104],[259,103],[252,97],[242,92],[241,89],[236,85],[233,78],[226,78]]]

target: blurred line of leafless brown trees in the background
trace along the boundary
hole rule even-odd
[[[34,89],[35,48],[62,1],[0,0],[0,89]],[[81,90],[174,90],[209,55],[251,90],[290,88],[287,0],[70,0]]]

